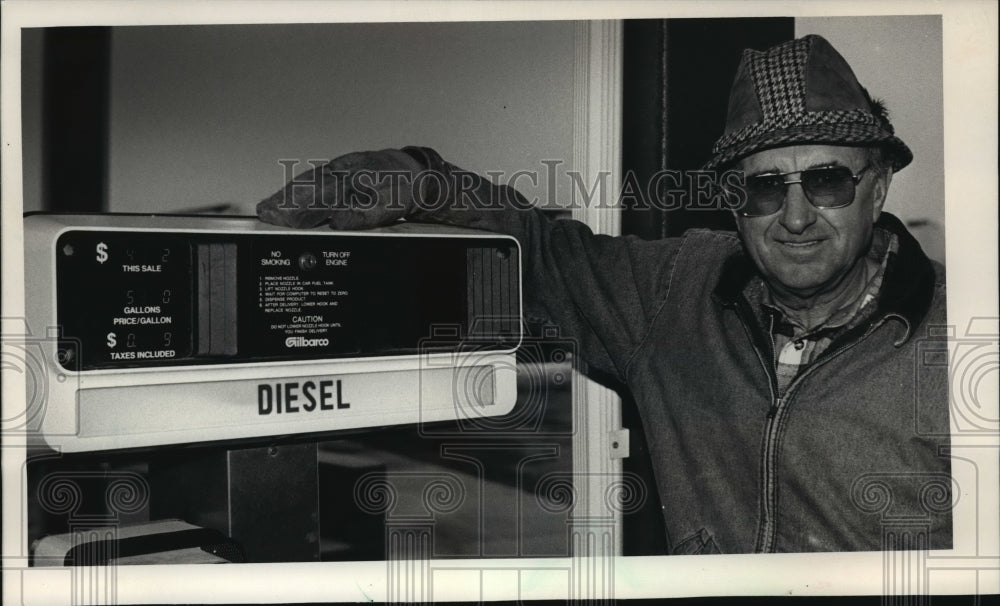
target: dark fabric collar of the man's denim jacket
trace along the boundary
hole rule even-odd
[[[890,254],[886,264],[875,317],[899,316],[907,325],[905,340],[930,309],[934,296],[934,266],[917,240],[892,214],[883,212],[875,228],[895,234],[899,243],[899,251]],[[747,283],[757,275],[757,267],[741,250],[723,265],[712,296],[727,307],[735,306],[743,297]]]

